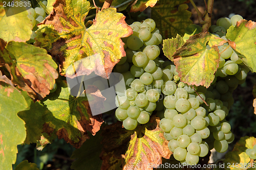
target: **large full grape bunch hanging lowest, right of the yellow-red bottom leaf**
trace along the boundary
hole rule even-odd
[[[205,87],[187,85],[175,79],[178,73],[174,65],[166,69],[174,76],[173,80],[163,82],[164,107],[158,115],[164,117],[160,128],[169,140],[168,148],[174,158],[182,163],[197,164],[199,157],[206,156],[213,148],[225,152],[234,137],[225,120],[227,107],[221,100],[215,100],[214,94]]]

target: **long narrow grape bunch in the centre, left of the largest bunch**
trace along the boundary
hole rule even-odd
[[[162,36],[153,19],[133,22],[130,27],[133,35],[123,38],[126,56],[114,67],[122,73],[126,88],[115,86],[116,118],[123,122],[127,130],[133,130],[138,124],[146,124],[157,107],[163,84],[164,74],[160,66],[163,61],[157,57]],[[142,49],[142,50],[141,50]],[[158,87],[158,88],[157,88]]]

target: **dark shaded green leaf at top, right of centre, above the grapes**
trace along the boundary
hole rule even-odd
[[[187,11],[188,6],[183,4],[186,2],[161,0],[152,8],[152,19],[155,20],[163,39],[175,37],[177,34],[183,36],[185,28],[192,23],[189,19],[191,12]]]

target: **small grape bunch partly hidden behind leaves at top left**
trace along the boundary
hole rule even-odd
[[[43,1],[42,4],[47,6],[47,1]],[[28,17],[32,22],[33,29],[32,29],[32,34],[30,36],[29,43],[35,42],[35,31],[38,29],[37,24],[43,21],[46,18],[46,12],[42,7],[36,7],[35,9],[33,8],[28,8]]]

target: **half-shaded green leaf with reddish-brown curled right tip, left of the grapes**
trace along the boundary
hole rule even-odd
[[[42,102],[47,107],[44,110],[43,130],[49,135],[56,134],[59,139],[64,138],[75,148],[79,148],[89,138],[87,131],[95,135],[103,120],[101,115],[92,116],[86,97],[75,98],[70,95],[66,81],[57,79],[56,83],[56,91]],[[103,105],[102,100],[98,98],[97,102]]]

